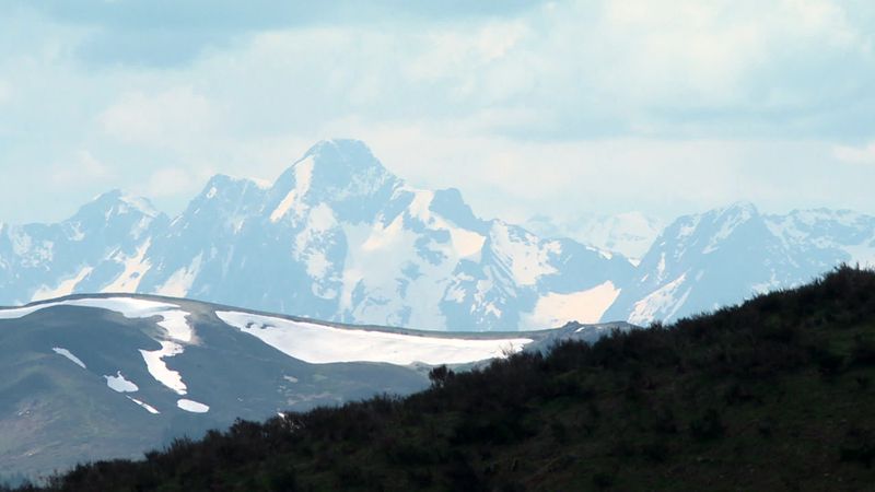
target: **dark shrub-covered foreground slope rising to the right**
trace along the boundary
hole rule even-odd
[[[871,490],[875,272],[431,379],[48,489]]]

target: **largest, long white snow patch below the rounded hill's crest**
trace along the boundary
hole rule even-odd
[[[503,358],[532,343],[527,338],[457,339],[340,329],[238,312],[217,312],[224,323],[311,364],[384,362],[464,364]]]

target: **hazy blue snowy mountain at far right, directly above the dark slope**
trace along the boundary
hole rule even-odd
[[[605,319],[673,320],[808,282],[841,262],[875,266],[875,218],[822,209],[767,215],[736,203],[666,227]]]

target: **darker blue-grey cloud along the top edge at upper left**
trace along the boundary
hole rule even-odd
[[[339,25],[387,25],[508,16],[537,5],[534,0],[468,2],[275,2],[250,0],[96,1],[73,5],[54,0],[13,0],[18,9],[35,10],[49,19],[91,30],[79,56],[94,65],[178,67],[210,49],[222,49],[259,31]]]

